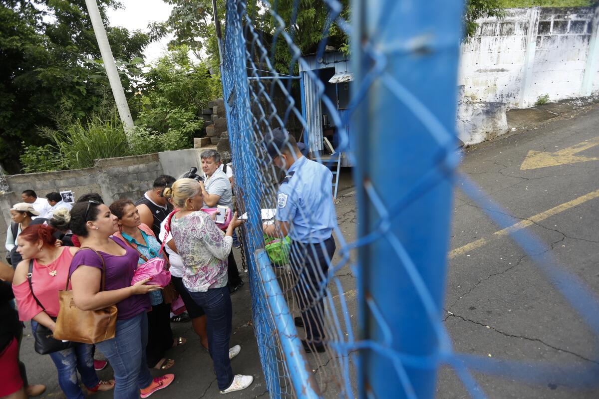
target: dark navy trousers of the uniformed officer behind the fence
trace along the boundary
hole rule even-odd
[[[289,263],[297,278],[295,300],[301,311],[308,342],[319,345],[325,338],[323,301],[326,296],[326,276],[329,261],[335,254],[335,240],[329,237],[320,243],[292,241]]]

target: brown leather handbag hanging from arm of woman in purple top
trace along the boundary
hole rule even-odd
[[[106,264],[104,258],[93,248],[84,246],[80,249],[91,249],[102,260],[102,288],[105,290]],[[114,338],[116,333],[116,315],[117,307],[111,305],[105,309],[99,310],[81,310],[75,306],[73,292],[69,291],[69,281],[71,276],[66,279],[66,288],[59,291],[59,310],[56,319],[56,328],[54,337],[56,339],[82,342],[98,343],[107,339]]]

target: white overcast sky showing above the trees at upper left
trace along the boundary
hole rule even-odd
[[[162,0],[122,0],[122,9],[108,10],[110,26],[122,26],[129,31],[141,30],[147,32],[150,22],[164,22],[171,14],[172,5]],[[150,63],[167,51],[170,37],[162,38],[146,47],[146,62]]]

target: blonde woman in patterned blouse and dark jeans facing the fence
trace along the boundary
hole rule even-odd
[[[193,301],[204,309],[207,318],[208,350],[220,393],[240,391],[252,385],[252,376],[234,375],[231,358],[241,347],[229,349],[231,339],[231,296],[227,288],[227,258],[232,234],[241,221],[234,214],[226,233],[212,217],[201,211],[202,187],[194,179],[179,179],[164,189],[179,208],[170,222],[176,248],[183,260],[183,285]]]

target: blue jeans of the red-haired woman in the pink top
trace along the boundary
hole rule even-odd
[[[31,330],[37,330],[38,323],[31,321]],[[93,345],[80,343],[64,351],[52,352],[50,358],[58,370],[58,384],[67,399],[83,399],[84,395],[77,380],[77,371],[87,388],[98,385],[99,379],[93,369]]]

